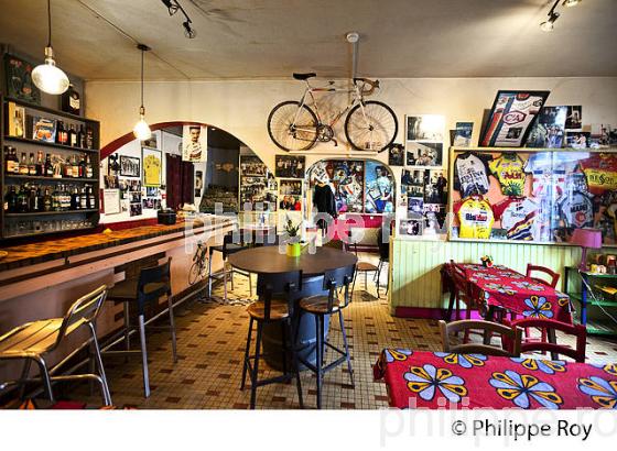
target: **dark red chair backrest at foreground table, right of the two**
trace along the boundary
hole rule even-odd
[[[576,348],[572,349],[564,344],[550,343],[545,341],[526,341],[521,344],[522,352],[530,351],[548,351],[562,355],[567,355],[576,362],[585,362],[585,349],[587,345],[587,329],[583,324],[567,324],[565,322],[555,321],[553,319],[541,318],[521,318],[511,322],[506,322],[511,327],[518,328],[538,328],[549,332],[550,330],[559,330],[563,333],[576,337]],[[546,333],[548,336],[548,333]],[[544,337],[544,334],[542,334]]]

